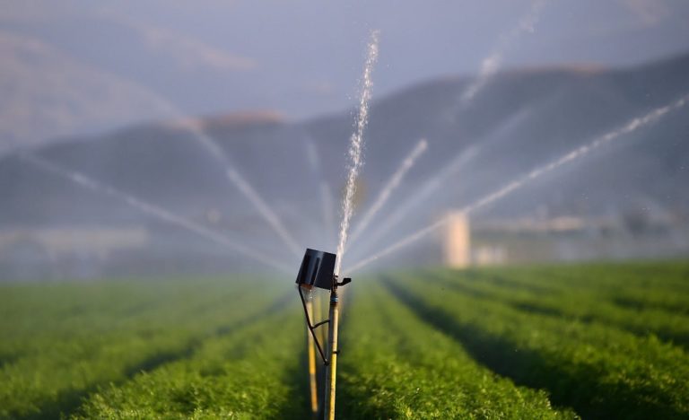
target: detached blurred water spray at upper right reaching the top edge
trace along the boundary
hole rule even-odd
[[[493,75],[498,72],[505,52],[507,52],[517,39],[519,39],[519,36],[525,32],[533,33],[536,30],[536,23],[540,18],[541,11],[546,1],[547,0],[534,0],[531,3],[528,13],[519,20],[519,24],[510,32],[504,34],[493,52],[488,57],[484,58],[481,62],[478,76],[476,76],[474,81],[462,92],[459,101],[462,107],[467,107],[471,101],[474,100],[476,94],[483,90],[485,85],[490,82]]]

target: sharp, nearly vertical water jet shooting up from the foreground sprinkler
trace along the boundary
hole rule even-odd
[[[379,31],[371,32],[371,40],[369,41],[368,57],[366,58],[366,65],[363,69],[362,80],[362,96],[359,100],[359,113],[356,118],[356,129],[350,139],[349,145],[349,171],[347,176],[347,186],[345,189],[345,197],[342,201],[342,221],[340,222],[339,242],[337,244],[337,261],[335,266],[335,274],[339,275],[342,267],[342,259],[345,254],[345,246],[347,244],[347,234],[349,232],[349,223],[353,214],[353,198],[356,191],[356,179],[359,176],[359,171],[363,164],[363,130],[369,122],[369,101],[371,101],[371,89],[373,87],[373,80],[371,75],[373,73],[373,66],[378,59],[378,39]]]

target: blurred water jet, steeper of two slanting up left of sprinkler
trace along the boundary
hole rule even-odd
[[[240,193],[246,197],[249,202],[256,208],[258,214],[260,214],[263,219],[268,223],[268,225],[275,231],[277,236],[284,242],[284,244],[294,253],[294,255],[299,256],[301,252],[301,247],[294,239],[292,234],[287,231],[284,223],[275,214],[275,212],[266,204],[266,201],[258,194],[257,190],[249,184],[249,181],[245,179],[239,171],[229,162],[227,155],[224,153],[219,144],[211,137],[208,136],[203,127],[200,126],[200,122],[196,119],[185,118],[176,121],[176,126],[188,130],[188,132],[193,136],[193,138],[201,144],[209,153],[211,153],[215,159],[222,162],[225,168],[225,176],[230,179],[231,183],[234,184]]]

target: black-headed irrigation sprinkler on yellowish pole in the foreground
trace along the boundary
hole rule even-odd
[[[326,387],[324,392],[324,418],[335,418],[335,390],[336,390],[336,371],[337,371],[337,328],[339,327],[339,305],[337,298],[337,287],[351,283],[351,278],[344,278],[342,282],[337,281],[335,274],[336,255],[316,249],[306,249],[304,259],[301,261],[297,284],[301,303],[306,315],[306,325],[309,328],[308,349],[309,354],[309,378],[311,392],[311,410],[315,414],[318,412],[318,401],[316,395],[318,384],[316,383],[316,357],[313,345],[316,345],[323,364],[326,366]],[[313,324],[311,313],[313,312],[313,302],[311,292],[313,288],[325,289],[330,291],[330,311],[325,320]],[[304,296],[304,291],[308,294]],[[316,329],[327,324],[327,354],[323,350],[323,345],[318,340]]]

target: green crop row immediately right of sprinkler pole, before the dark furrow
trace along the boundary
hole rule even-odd
[[[346,311],[340,370],[344,418],[575,418],[543,391],[517,387],[481,367],[446,334],[357,284]]]

